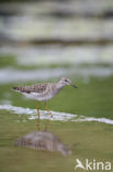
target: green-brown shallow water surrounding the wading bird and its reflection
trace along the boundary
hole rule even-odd
[[[57,66],[47,69],[18,69],[15,65],[12,65],[12,68],[4,67],[5,65],[1,69],[1,76],[5,75],[7,80],[0,77],[0,161],[2,162],[0,170],[35,172],[38,169],[43,172],[53,170],[68,172],[75,171],[76,159],[82,162],[86,159],[112,162],[113,71],[111,65],[60,67],[61,73]],[[57,74],[55,78],[54,72]],[[68,74],[79,87],[74,89],[67,86],[48,103],[54,115],[48,131],[54,132],[72,151],[72,154],[67,157],[60,152],[13,146],[19,138],[36,130],[37,120],[36,103],[13,93],[11,88],[15,85],[48,82],[45,77],[47,73],[49,82],[57,82],[61,75]],[[41,109],[41,129],[44,130],[49,115],[45,112],[43,104]]]

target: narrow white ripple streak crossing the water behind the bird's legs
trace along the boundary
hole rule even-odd
[[[36,119],[36,109],[23,108],[23,107],[15,107],[12,105],[0,105],[1,110],[12,111],[13,114],[18,115],[27,115],[27,119]],[[113,125],[113,120],[106,118],[94,118],[94,117],[86,117],[86,116],[78,116],[67,112],[58,112],[52,111],[53,118],[50,118],[46,111],[41,110],[41,119],[50,119],[50,120],[60,120],[60,121],[75,121],[75,122],[82,122],[82,121],[97,121]]]

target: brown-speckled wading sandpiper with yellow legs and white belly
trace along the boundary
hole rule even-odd
[[[46,101],[55,97],[63,87],[71,85],[77,88],[70,79],[63,77],[58,83],[45,83],[34,84],[25,87],[13,87],[13,90],[22,93],[24,96],[37,100],[37,129],[39,130],[39,101],[45,101],[45,109],[49,112],[50,117],[53,114],[49,111]]]

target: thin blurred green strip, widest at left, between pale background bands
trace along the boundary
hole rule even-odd
[[[38,60],[42,58],[42,57],[38,57]],[[58,64],[38,64],[38,61],[35,62],[35,64],[29,64],[29,65],[25,65],[25,64],[19,64],[18,62],[18,58],[12,55],[12,54],[3,54],[3,55],[0,55],[0,68],[3,68],[3,67],[13,67],[15,69],[42,69],[42,68],[70,68],[70,67],[75,67],[75,64],[69,64],[69,63],[58,63]],[[78,66],[76,66],[78,67]],[[92,68],[92,67],[113,67],[113,64],[110,64],[110,63],[93,63],[93,64],[88,64],[88,63],[83,63],[83,64],[79,64],[79,67],[80,68],[86,68],[86,67],[89,67],[89,68]]]

